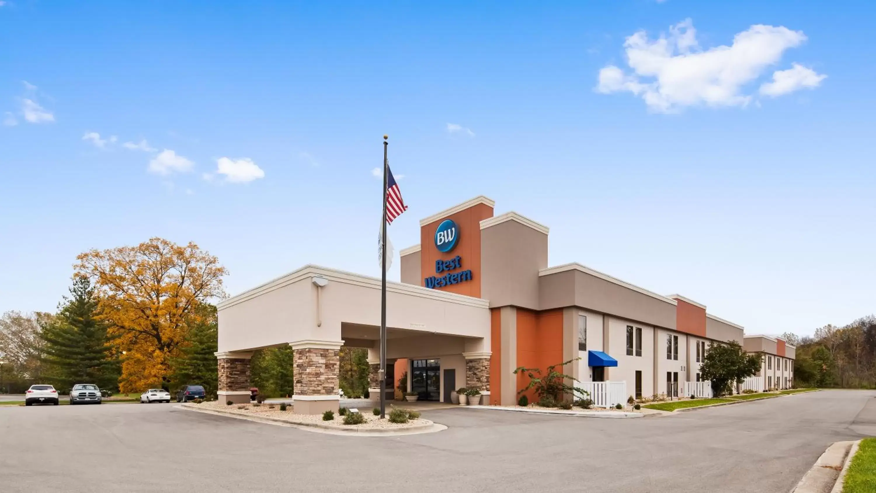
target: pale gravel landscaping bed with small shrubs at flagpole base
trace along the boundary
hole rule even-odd
[[[365,422],[361,425],[344,425],[343,424],[343,416],[335,413],[335,419],[329,421],[323,421],[321,414],[295,414],[293,412],[293,406],[289,405],[286,408],[286,411],[280,411],[279,405],[274,405],[271,408],[270,405],[251,405],[251,404],[235,404],[235,405],[225,405],[224,403],[218,401],[212,402],[202,402],[201,404],[192,404],[189,403],[192,407],[196,407],[197,409],[203,409],[206,411],[218,411],[218,412],[229,412],[231,414],[239,414],[241,416],[254,416],[258,418],[270,418],[270,419],[282,419],[283,421],[287,421],[292,424],[304,425],[304,426],[320,426],[320,427],[330,427],[336,429],[346,429],[346,430],[380,430],[380,429],[391,429],[391,430],[406,430],[410,428],[420,428],[423,426],[431,426],[433,422],[428,419],[409,419],[407,423],[391,423],[389,419],[379,419],[378,416],[371,414],[369,412],[363,412],[362,416],[365,419]],[[387,410],[386,415],[389,417],[389,411]]]

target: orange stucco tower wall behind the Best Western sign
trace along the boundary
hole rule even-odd
[[[457,255],[462,257],[462,267],[456,271],[471,271],[471,280],[455,285],[446,285],[435,289],[456,292],[466,296],[481,297],[481,221],[492,217],[493,208],[486,204],[476,204],[427,225],[420,227],[420,285],[425,285],[423,279],[430,276],[442,276],[435,273],[436,260],[450,260]],[[456,222],[459,229],[459,239],[456,247],[442,253],[435,248],[435,229],[445,219]],[[454,272],[456,272],[454,271]]]

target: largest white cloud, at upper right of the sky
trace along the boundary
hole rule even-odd
[[[703,50],[690,19],[669,28],[669,35],[648,39],[639,31],[624,43],[632,74],[609,65],[599,71],[598,92],[630,92],[649,109],[664,113],[688,106],[745,106],[752,100],[743,88],[789,48],[806,40],[784,26],[752,25],[733,37],[731,46]]]

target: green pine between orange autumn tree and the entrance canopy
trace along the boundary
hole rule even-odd
[[[215,396],[218,390],[216,307],[202,304],[195,312],[198,316],[180,345],[180,355],[171,358],[173,388],[169,390],[188,384],[203,385],[208,396]]]

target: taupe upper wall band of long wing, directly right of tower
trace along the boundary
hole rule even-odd
[[[539,303],[541,310],[580,306],[626,320],[675,328],[674,302],[578,270],[540,275]]]

